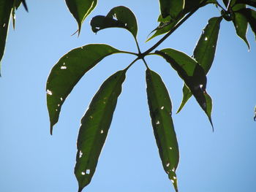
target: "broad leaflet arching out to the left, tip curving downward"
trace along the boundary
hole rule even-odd
[[[53,66],[46,85],[50,134],[59,120],[62,104],[80,78],[99,61],[113,53],[122,52],[109,45],[85,45],[69,51]]]

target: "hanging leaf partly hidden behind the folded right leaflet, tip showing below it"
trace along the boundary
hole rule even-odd
[[[206,28],[203,29],[203,33],[197,42],[194,50],[193,57],[200,66],[203,67],[205,73],[211,69],[211,64],[214,61],[214,55],[217,47],[217,40],[219,37],[219,26],[222,21],[222,17],[211,18],[208,20]],[[186,85],[183,86],[183,99],[181,106],[178,108],[178,112],[184,107],[189,98],[192,96],[191,91]]]

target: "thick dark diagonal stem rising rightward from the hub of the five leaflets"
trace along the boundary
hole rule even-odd
[[[191,12],[189,12],[189,14],[187,14],[180,22],[178,22],[176,24],[176,26],[174,26],[167,34],[165,34],[164,37],[162,37],[162,39],[160,39],[155,45],[153,45],[151,48],[149,48],[148,50],[146,50],[144,53],[141,54],[141,57],[143,58],[145,55],[147,55],[148,53],[150,53],[152,50],[154,50],[155,48],[157,48],[163,41],[165,41],[165,39],[167,39],[167,37],[170,36],[170,34],[173,34],[173,32],[179,27],[181,26],[182,23],[184,23],[191,15],[193,15],[197,9],[200,8],[200,6],[202,4],[204,4],[205,1],[203,1],[201,4],[199,4],[198,7],[196,7],[195,9],[193,9]]]

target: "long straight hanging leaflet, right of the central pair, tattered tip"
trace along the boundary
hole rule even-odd
[[[173,119],[171,117],[172,103],[170,96],[159,74],[150,69],[146,69],[146,84],[151,123],[162,166],[172,181],[175,190],[178,191],[176,169],[179,153]]]

